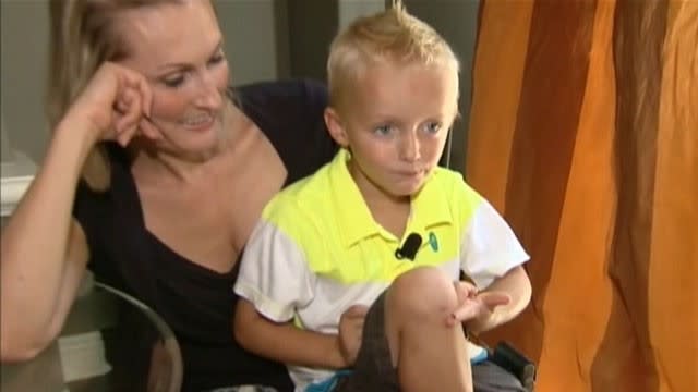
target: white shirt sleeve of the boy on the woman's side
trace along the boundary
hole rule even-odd
[[[298,235],[291,236],[281,229],[284,219],[275,212],[278,209],[264,215],[252,232],[234,292],[266,318],[286,322],[293,318],[296,309],[312,301],[315,277]]]

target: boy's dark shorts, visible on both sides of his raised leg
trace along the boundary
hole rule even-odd
[[[516,377],[484,360],[472,366],[474,392],[526,392]],[[371,305],[353,371],[339,379],[334,392],[397,392],[397,369],[385,335],[385,293]]]

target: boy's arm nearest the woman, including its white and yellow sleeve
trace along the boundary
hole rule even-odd
[[[338,335],[290,322],[296,309],[314,297],[315,274],[302,244],[320,237],[316,228],[302,209],[280,196],[264,213],[248,241],[234,285],[240,297],[233,319],[237,341],[250,352],[289,365],[346,367]],[[299,225],[298,220],[305,223]]]

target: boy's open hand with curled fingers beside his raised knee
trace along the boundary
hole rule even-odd
[[[512,297],[502,292],[482,292],[468,282],[455,284],[458,295],[458,307],[446,319],[446,324],[455,326],[457,322],[467,322],[468,327],[479,330],[478,326],[485,323],[494,309],[501,305],[507,305]]]

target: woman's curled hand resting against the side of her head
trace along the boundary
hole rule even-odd
[[[159,133],[149,121],[152,101],[143,75],[106,62],[73,101],[61,125],[86,126],[94,143],[111,139],[125,146],[139,131],[156,138]]]

